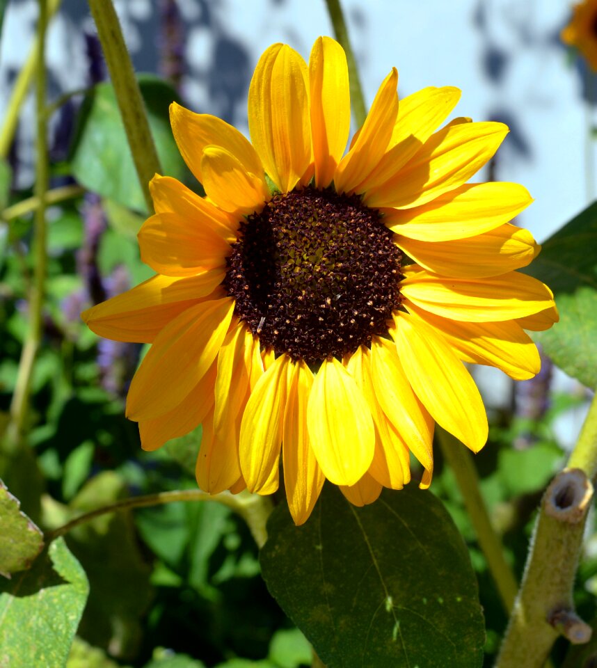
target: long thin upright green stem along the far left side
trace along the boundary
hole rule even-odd
[[[8,439],[6,452],[16,452],[22,443],[24,427],[29,409],[31,395],[31,376],[42,337],[42,309],[45,297],[45,279],[47,271],[46,249],[46,202],[45,193],[48,189],[48,150],[47,150],[47,121],[46,104],[46,68],[45,68],[45,41],[48,24],[47,0],[39,0],[40,17],[38,22],[38,49],[35,53],[37,61],[35,72],[35,105],[37,122],[37,141],[35,157],[35,198],[38,207],[35,209],[33,253],[35,264],[33,269],[33,284],[29,296],[29,324],[19,369],[15,392],[10,404],[10,424],[8,425]]]

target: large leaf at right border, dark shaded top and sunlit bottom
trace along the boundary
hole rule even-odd
[[[552,235],[524,269],[555,294],[560,321],[536,340],[564,371],[597,387],[597,203]]]

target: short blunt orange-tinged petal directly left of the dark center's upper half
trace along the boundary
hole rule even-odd
[[[230,255],[230,245],[219,234],[173,213],[148,218],[137,238],[141,260],[164,276],[194,276],[225,267]]]

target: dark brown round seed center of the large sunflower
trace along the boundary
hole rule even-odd
[[[401,257],[377,209],[307,188],[241,223],[223,285],[264,348],[312,365],[388,332]]]

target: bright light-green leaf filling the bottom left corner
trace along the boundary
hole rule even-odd
[[[63,668],[88,592],[62,538],[29,571],[0,582],[0,666]]]

